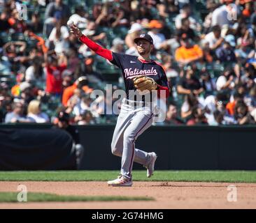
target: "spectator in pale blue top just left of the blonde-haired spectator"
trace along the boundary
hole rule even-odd
[[[5,123],[28,123],[26,116],[24,115],[24,104],[21,102],[13,102],[13,112],[6,114]]]

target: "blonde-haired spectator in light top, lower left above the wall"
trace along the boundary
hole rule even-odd
[[[49,117],[44,112],[41,112],[41,103],[38,100],[31,100],[27,107],[27,119],[31,123],[48,123]]]

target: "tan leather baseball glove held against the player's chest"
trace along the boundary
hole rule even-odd
[[[134,86],[138,91],[145,91],[145,90],[152,91],[157,89],[157,82],[155,82],[155,80],[152,79],[151,77],[140,75],[140,76],[134,77],[133,81],[134,81]]]

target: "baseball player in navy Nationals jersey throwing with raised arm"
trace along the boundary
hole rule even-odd
[[[83,35],[76,25],[69,26],[79,40],[92,49],[99,56],[104,57],[122,70],[125,80],[126,98],[122,100],[120,114],[113,133],[111,151],[113,155],[122,157],[120,176],[108,181],[112,186],[131,186],[131,170],[133,162],[142,164],[147,169],[147,176],[152,176],[157,155],[146,153],[135,148],[135,141],[152,124],[155,109],[145,100],[146,93],[152,94],[164,91],[164,97],[169,96],[169,86],[166,74],[159,63],[150,59],[150,52],[154,45],[148,34],[141,34],[134,39],[139,56],[118,54],[97,45],[94,41]],[[141,98],[131,97],[131,92],[140,92]],[[146,93],[145,93],[146,91]],[[139,98],[139,100],[137,100]],[[150,98],[152,98],[150,96]]]

